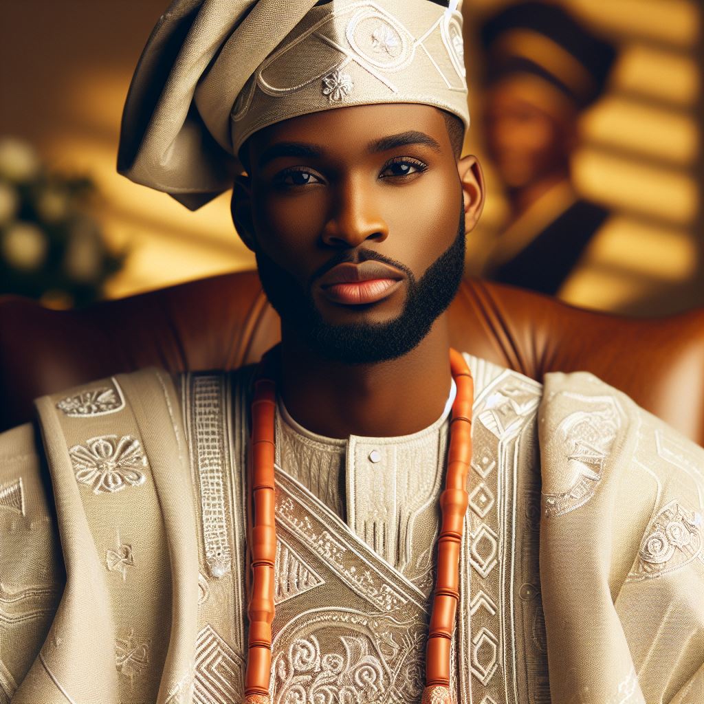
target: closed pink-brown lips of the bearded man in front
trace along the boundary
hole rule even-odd
[[[377,261],[339,264],[320,279],[323,295],[333,303],[361,306],[391,295],[404,278],[398,269]]]

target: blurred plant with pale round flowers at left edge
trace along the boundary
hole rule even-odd
[[[0,138],[0,294],[47,306],[82,306],[101,297],[122,268],[90,213],[92,180],[50,172],[30,144]]]

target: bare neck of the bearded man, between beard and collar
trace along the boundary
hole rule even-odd
[[[320,435],[407,435],[443,412],[451,387],[449,348],[446,313],[408,354],[370,365],[321,358],[284,328],[279,393],[291,417]]]

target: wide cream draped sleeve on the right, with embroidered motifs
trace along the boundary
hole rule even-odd
[[[704,701],[704,451],[591,374],[539,408],[554,702]]]

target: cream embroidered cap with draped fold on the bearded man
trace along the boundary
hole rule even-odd
[[[257,130],[331,108],[424,103],[469,125],[462,0],[176,0],[139,59],[118,171],[195,210]]]

